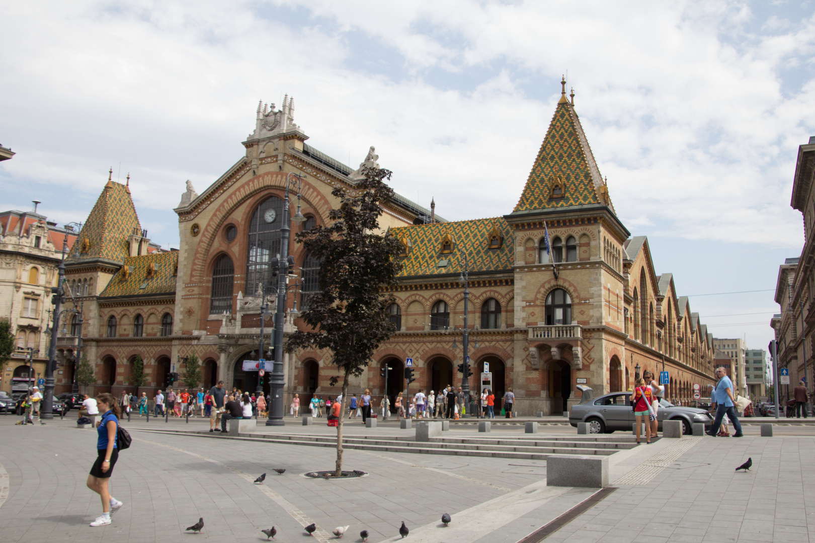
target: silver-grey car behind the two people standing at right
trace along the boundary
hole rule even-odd
[[[594,398],[592,389],[583,389],[583,399],[578,405],[571,408],[569,423],[576,427],[577,423],[588,423],[588,431],[593,434],[610,434],[612,431],[631,431],[636,422],[631,409],[631,392],[611,392]],[[685,434],[693,433],[694,423],[703,423],[705,430],[713,425],[713,418],[704,409],[673,405],[665,399],[659,400],[657,422],[659,430],[666,420],[679,420]]]

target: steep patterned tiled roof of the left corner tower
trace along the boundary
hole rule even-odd
[[[120,183],[108,181],[74,244],[86,247],[81,252],[81,260],[104,258],[122,262],[129,254],[128,237],[140,230],[139,216],[136,215],[133,199],[130,198],[130,189]],[[71,255],[74,254],[74,248],[71,247]]]

